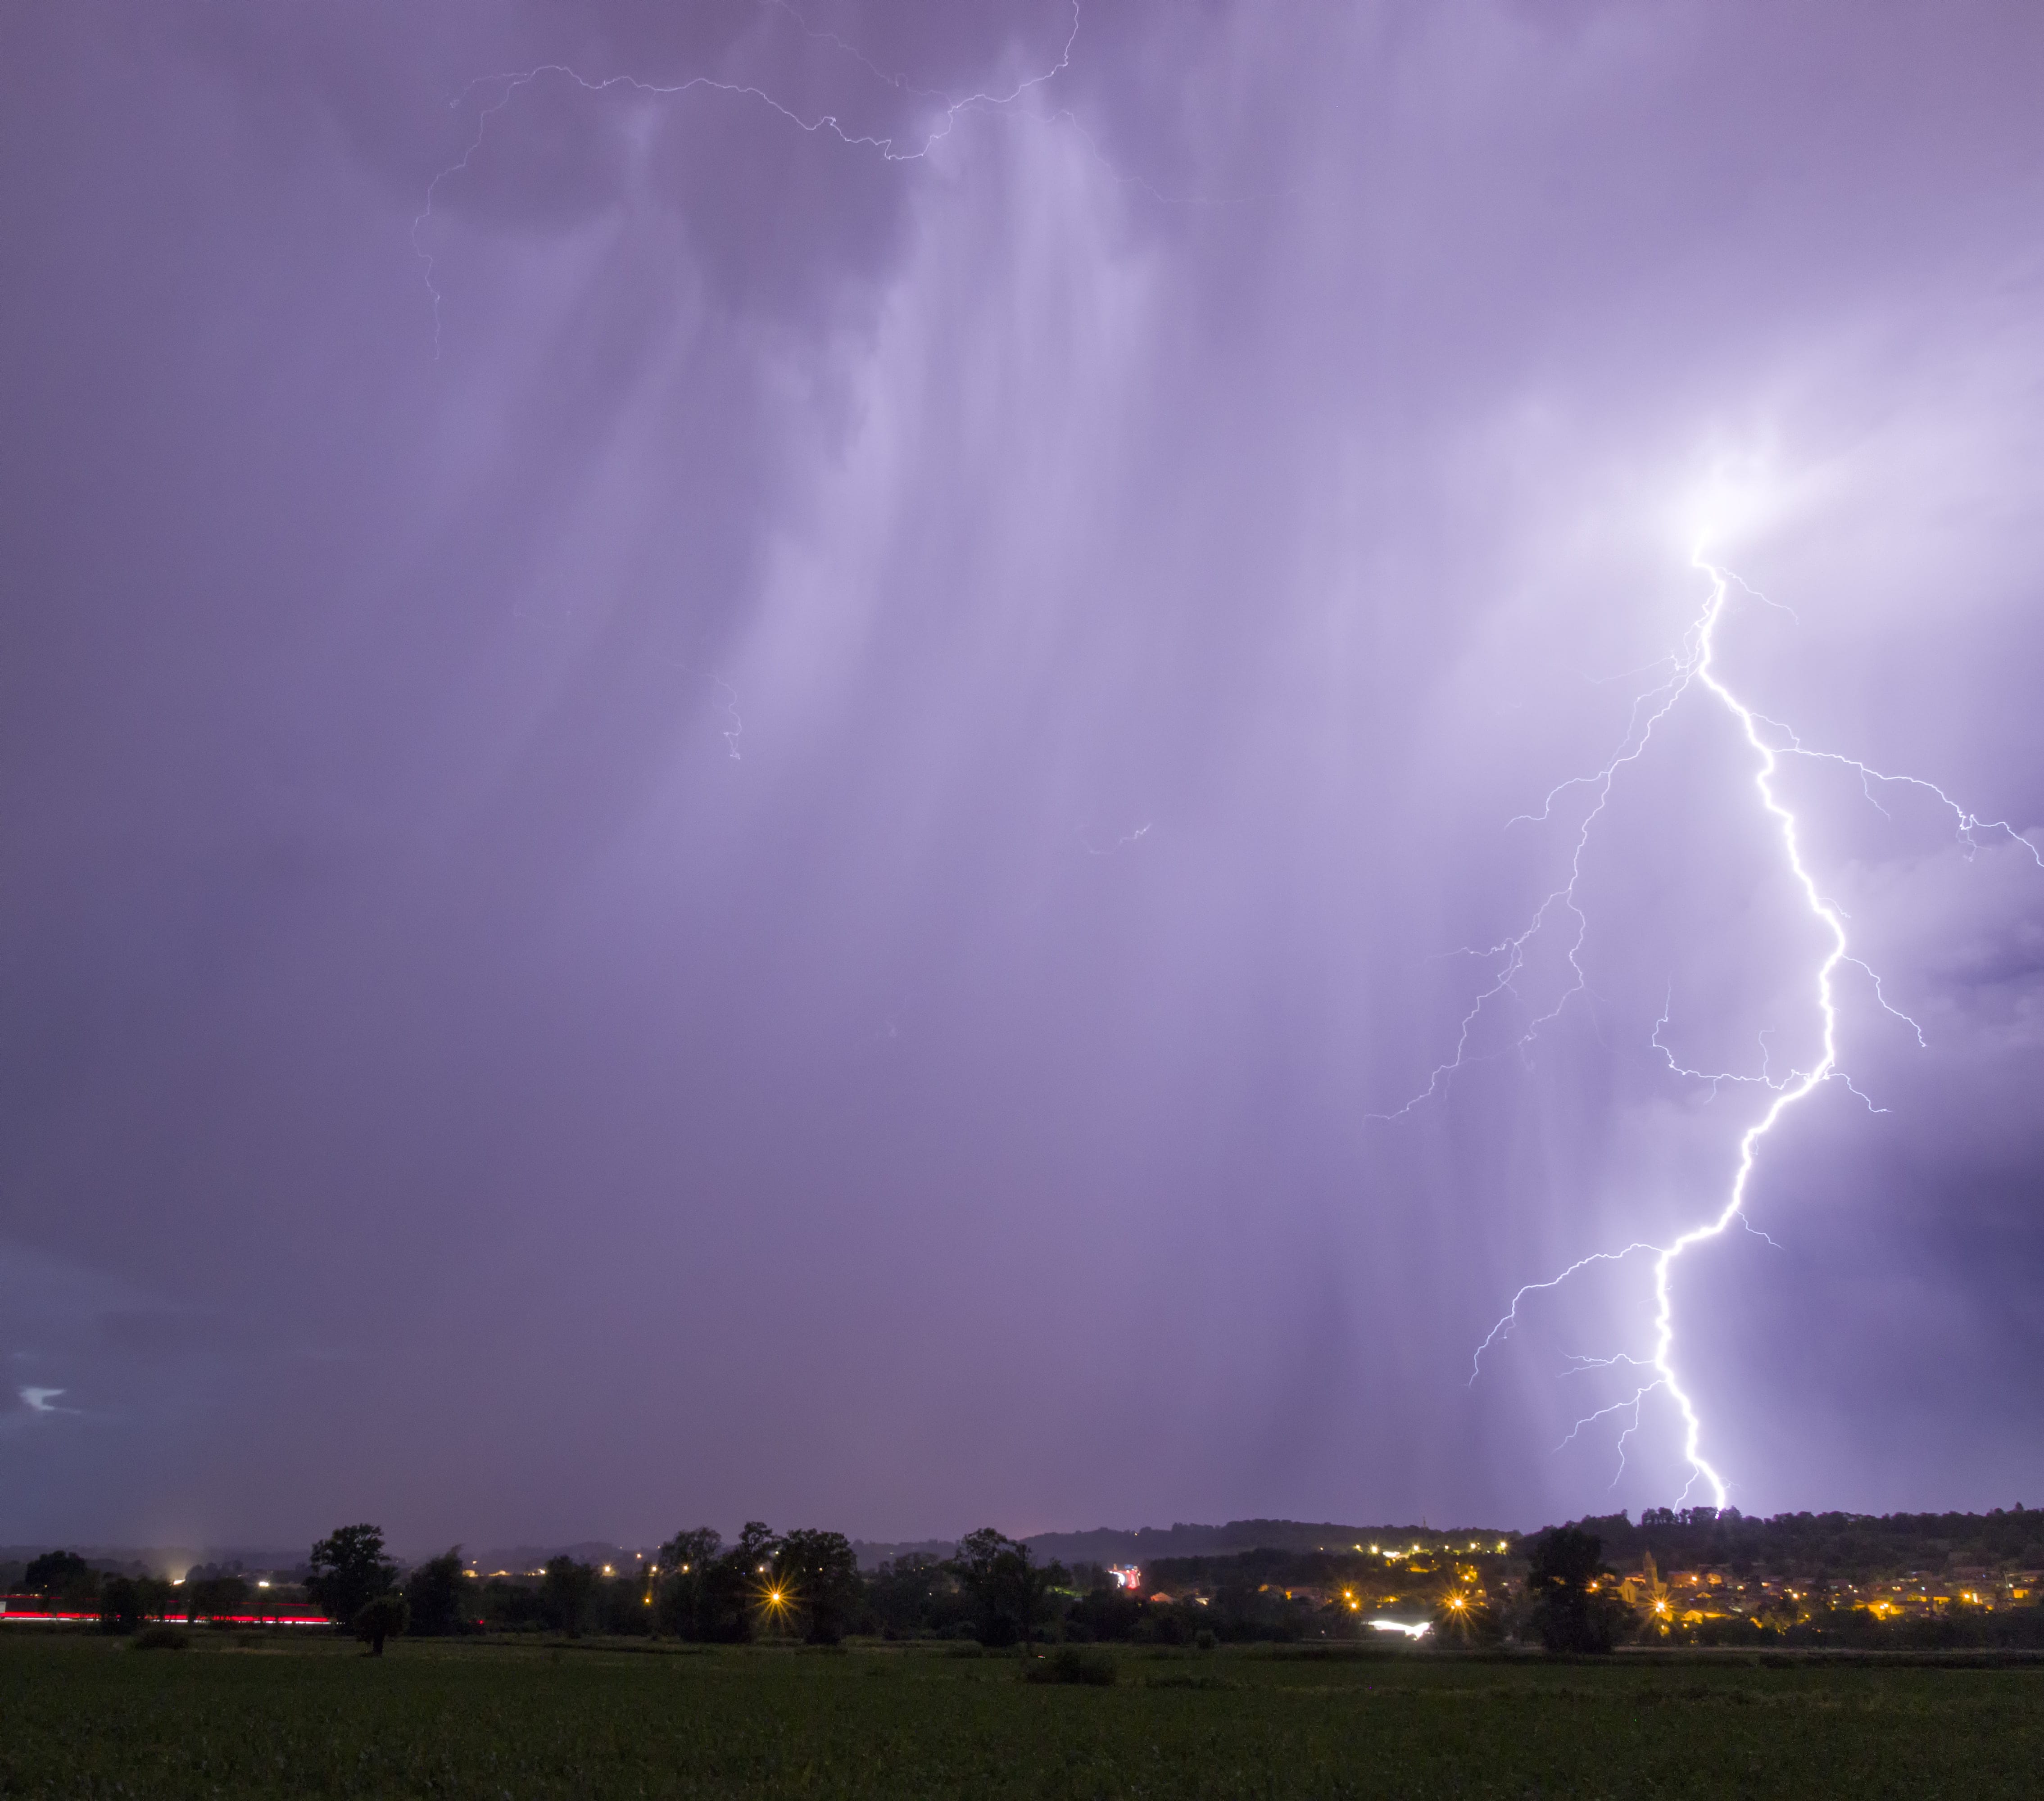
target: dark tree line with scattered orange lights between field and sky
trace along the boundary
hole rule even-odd
[[[1725,1509],[1647,1511],[1551,1527],[1515,1545],[1461,1550],[1437,1539],[1372,1552],[1251,1550],[1149,1564],[1139,1592],[1098,1564],[1038,1564],[1026,1543],[991,1527],[969,1533],[948,1558],[897,1556],[865,1572],[834,1531],[775,1533],[748,1521],[730,1543],[711,1529],[675,1533],[650,1562],[611,1570],[568,1556],[517,1578],[478,1578],[460,1548],[409,1570],[384,1550],[378,1527],[339,1527],[313,1545],[305,1599],[372,1650],[399,1633],[552,1631],[566,1635],[666,1635],[697,1644],[848,1635],[953,1637],[1012,1646],[1061,1642],[1302,1642],[1369,1637],[1372,1619],[1396,1607],[1400,1625],[1429,1619],[1437,1642],[1541,1644],[1602,1652],[1625,1640],[1692,1640],[1811,1646],[2044,1646],[2044,1607],[1878,1617],[1833,1597],[1829,1570],[1852,1578],[1903,1562],[2044,1564],[2044,1515],[1778,1515],[1744,1519]],[[2034,1535],[2036,1533],[2036,1535]],[[1619,1597],[1609,1560],[1631,1566],[1652,1552],[1664,1572],[1690,1566],[1731,1574],[1793,1574],[1797,1603],[1680,1625],[1647,1619]],[[10,1566],[31,1592],[80,1611],[108,1631],[151,1619],[247,1619],[262,1611],[245,1578],[194,1572],[174,1588],[153,1576],[104,1574],[76,1552],[45,1552]],[[1844,1580],[1844,1574],[1842,1574]],[[1733,1595],[1739,1584],[1725,1588]],[[272,1590],[288,1605],[292,1590]],[[1701,1590],[1699,1590],[1701,1592]],[[1746,1586],[1748,1595],[1758,1584]],[[1770,1590],[1772,1592],[1772,1590]]]

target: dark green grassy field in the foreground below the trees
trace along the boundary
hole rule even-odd
[[[2044,1793],[2044,1666],[1120,1652],[1049,1687],[942,1648],[31,1631],[0,1642],[10,1801]]]

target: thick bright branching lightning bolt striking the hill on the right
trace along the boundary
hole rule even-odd
[[[1780,720],[1770,720],[1760,713],[1727,685],[1717,664],[1717,632],[1725,619],[1727,605],[1731,601],[1733,589],[1752,595],[1764,605],[1778,607],[1778,601],[1770,601],[1758,589],[1748,587],[1727,568],[1707,562],[1703,550],[1699,548],[1690,558],[1690,566],[1701,570],[1709,579],[1709,595],[1703,603],[1703,611],[1688,628],[1682,638],[1682,646],[1676,654],[1647,664],[1647,668],[1666,668],[1668,675],[1662,683],[1647,689],[1633,701],[1631,715],[1625,726],[1625,734],[1619,740],[1619,748],[1613,756],[1594,773],[1582,777],[1570,777],[1568,781],[1551,787],[1541,801],[1539,812],[1521,814],[1513,824],[1543,824],[1553,818],[1558,801],[1570,791],[1584,791],[1588,795],[1588,807],[1584,810],[1582,822],[1576,830],[1576,838],[1570,850],[1568,875],[1560,887],[1549,891],[1545,899],[1535,908],[1533,918],[1527,926],[1508,938],[1500,938],[1496,944],[1486,949],[1464,946],[1457,953],[1488,963],[1492,967],[1492,979],[1482,987],[1461,1018],[1461,1026],[1455,1034],[1453,1055],[1439,1063],[1427,1077],[1427,1088],[1414,1094],[1404,1106],[1388,1114],[1372,1114],[1376,1120],[1404,1120],[1423,1106],[1425,1102],[1439,1096],[1453,1079],[1453,1075],[1470,1063],[1484,1061],[1488,1055],[1472,1049],[1472,1032],[1478,1022],[1492,1010],[1500,1000],[1519,1002],[1519,975],[1527,967],[1529,946],[1547,930],[1549,922],[1558,918],[1568,918],[1574,924],[1568,928],[1568,949],[1566,961],[1570,969],[1570,979],[1562,987],[1560,998],[1545,1012],[1539,1012],[1525,1020],[1513,1049],[1525,1053],[1539,1030],[1551,1024],[1568,1004],[1584,991],[1586,977],[1582,969],[1582,946],[1588,936],[1588,918],[1582,912],[1576,891],[1582,881],[1582,859],[1590,846],[1590,838],[1596,830],[1596,822],[1602,818],[1611,803],[1613,785],[1621,773],[1637,763],[1654,740],[1656,728],[1674,711],[1676,703],[1682,701],[1690,691],[1701,691],[1711,701],[1715,701],[1737,726],[1746,748],[1752,754],[1754,765],[1754,793],[1760,812],[1774,826],[1774,836],[1780,846],[1782,867],[1791,877],[1793,887],[1801,893],[1803,906],[1807,908],[1811,920],[1821,928],[1821,940],[1827,946],[1823,957],[1811,971],[1811,994],[1815,1000],[1817,1018],[1821,1022],[1819,1034],[1819,1055],[1809,1069],[1791,1069],[1786,1075],[1776,1075],[1772,1071],[1772,1059],[1768,1057],[1766,1032],[1760,1036],[1760,1071],[1758,1073],[1737,1073],[1737,1071],[1709,1071],[1692,1069],[1678,1063],[1674,1051],[1664,1043],[1662,1032],[1668,1026],[1670,1004],[1664,1002],[1662,1014],[1654,1024],[1652,1045],[1660,1051],[1668,1069],[1676,1075],[1692,1077],[1699,1081],[1709,1081],[1713,1096],[1723,1083],[1758,1083],[1764,1088],[1772,1100],[1762,1110],[1760,1118],[1754,1120],[1737,1141],[1737,1157],[1733,1163],[1731,1180],[1725,1188],[1723,1202],[1713,1214],[1703,1222],[1680,1233],[1666,1245],[1631,1243],[1621,1251],[1592,1251],[1586,1257],[1578,1257],[1560,1276],[1545,1282],[1525,1284],[1511,1300],[1502,1319],[1490,1329],[1484,1341],[1476,1347],[1470,1368],[1470,1382],[1482,1374],[1484,1353],[1492,1349],[1500,1339],[1504,1339],[1511,1329],[1519,1323],[1519,1308],[1531,1296],[1549,1292],[1566,1284],[1578,1272],[1590,1267],[1592,1263],[1623,1263],[1635,1255],[1652,1257],[1654,1274],[1654,1351],[1650,1357],[1615,1355],[1615,1357],[1572,1357],[1572,1370],[1566,1374],[1576,1374],[1590,1368],[1615,1368],[1619,1364],[1639,1368],[1641,1374],[1650,1376],[1643,1380],[1629,1396],[1602,1406],[1596,1413],[1578,1419],[1574,1429],[1562,1441],[1564,1445],[1574,1441],[1578,1433],[1596,1421],[1611,1417],[1629,1417],[1629,1425],[1619,1435],[1619,1474],[1625,1472],[1625,1441],[1639,1431],[1641,1406],[1650,1394],[1666,1394],[1676,1409],[1682,1423],[1682,1458],[1688,1464],[1690,1476],[1682,1488],[1682,1500],[1697,1488],[1705,1484],[1717,1507],[1727,1503],[1727,1484],[1723,1474],[1711,1464],[1703,1453],[1705,1427],[1703,1417],[1697,1411],[1694,1396],[1682,1382],[1676,1368],[1676,1306],[1674,1306],[1674,1276],[1676,1265],[1682,1257],[1717,1237],[1721,1237],[1733,1220],[1746,1225],[1748,1231],[1758,1233],[1750,1220],[1746,1220],[1746,1196],[1752,1186],[1754,1169],[1760,1161],[1760,1149],[1782,1118],[1811,1094],[1815,1094],[1825,1081],[1842,1081],[1854,1096],[1858,1096],[1870,1110],[1874,1108],[1868,1096],[1852,1086],[1852,1079],[1840,1069],[1838,1061],[1838,1018],[1840,1018],[1840,977],[1842,971],[1858,971],[1866,977],[1874,1002],[1883,1012],[1893,1014],[1897,1020],[1905,1022],[1913,1032],[1917,1045],[1925,1045],[1923,1028],[1905,1014],[1901,1008],[1893,1006],[1883,989],[1880,975],[1862,959],[1852,955],[1852,946],[1846,934],[1846,912],[1829,902],[1809,865],[1803,861],[1803,836],[1797,814],[1786,805],[1778,791],[1778,777],[1786,758],[1807,758],[1815,763],[1836,765],[1846,769],[1860,779],[1860,789],[1883,816],[1889,816],[1887,807],[1880,803],[1880,793],[1889,787],[1907,787],[1936,797],[1936,801],[1952,816],[1954,832],[1958,842],[1964,844],[1968,861],[1983,848],[1983,840],[1997,840],[2005,844],[2015,844],[2030,855],[2038,869],[2044,869],[2044,850],[2040,850],[2030,838],[2017,832],[2007,820],[1985,820],[1968,807],[1954,801],[1942,787],[1932,781],[1923,781],[1913,775],[1891,775],[1887,771],[1874,769],[1854,756],[1844,756],[1836,750],[1817,750],[1807,746],[1788,726]],[[1788,611],[1788,609],[1782,609]],[[1766,1237],[1766,1233],[1758,1233]],[[1768,1239],[1772,1243],[1772,1239]],[[1558,1447],[1560,1449],[1560,1447]],[[1617,1480],[1617,1478],[1613,1478]]]

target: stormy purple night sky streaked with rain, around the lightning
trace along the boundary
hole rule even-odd
[[[1699,542],[2011,828],[1780,758],[1703,1453],[2044,1500],[2044,12],[1081,8],[10,8],[0,1541],[1674,1503]]]

